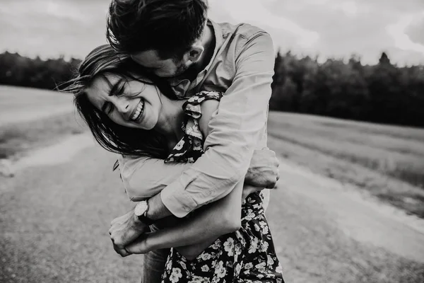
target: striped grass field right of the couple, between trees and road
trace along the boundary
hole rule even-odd
[[[424,217],[424,129],[270,112],[269,136],[284,158]]]

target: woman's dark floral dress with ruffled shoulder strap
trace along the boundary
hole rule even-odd
[[[221,97],[222,93],[202,91],[184,103],[185,135],[165,162],[194,162],[204,153],[204,138],[199,129],[200,104]],[[162,282],[284,282],[262,202],[261,192],[249,195],[242,203],[241,229],[220,236],[194,260],[187,260],[172,248]]]

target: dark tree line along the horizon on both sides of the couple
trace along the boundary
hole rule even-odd
[[[54,90],[79,59],[0,54],[0,84]],[[276,55],[270,109],[396,125],[424,126],[424,66],[397,67],[384,52],[375,65]]]

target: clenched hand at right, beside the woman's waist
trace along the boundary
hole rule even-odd
[[[280,166],[280,163],[274,151],[267,147],[255,150],[247,170],[245,182],[254,187],[273,188],[280,178],[278,166]]]

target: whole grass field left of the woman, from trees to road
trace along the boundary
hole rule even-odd
[[[83,132],[82,124],[69,94],[0,86],[0,158],[18,158],[30,149]]]

